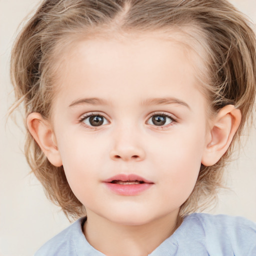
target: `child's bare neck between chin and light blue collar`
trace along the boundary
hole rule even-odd
[[[87,210],[83,233],[87,241],[108,256],[146,256],[168,238],[181,223],[177,213],[142,225],[123,225]],[[120,253],[121,252],[121,253]]]

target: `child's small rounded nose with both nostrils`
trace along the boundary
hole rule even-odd
[[[141,161],[145,158],[144,147],[139,135],[133,129],[119,130],[113,136],[113,144],[110,150],[112,160]]]

